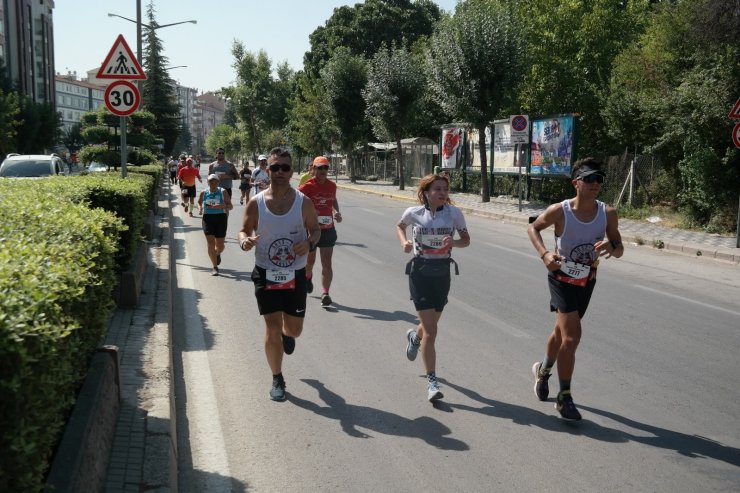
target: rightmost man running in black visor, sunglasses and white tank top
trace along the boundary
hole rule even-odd
[[[547,340],[545,358],[532,366],[534,392],[539,400],[547,400],[547,381],[557,361],[560,392],[555,409],[564,419],[578,421],[581,413],[573,403],[570,381],[581,340],[581,319],[596,285],[599,259],[621,257],[624,245],[617,211],[596,199],[604,183],[601,162],[591,157],[581,159],[573,165],[572,176],[575,198],[549,206],[529,225],[527,233],[547,268],[550,311],[555,312],[555,328]],[[553,251],[547,249],[541,234],[550,226],[555,230]]]

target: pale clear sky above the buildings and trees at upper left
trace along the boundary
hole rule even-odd
[[[142,22],[147,22],[150,0],[141,0]],[[232,85],[235,80],[231,46],[244,43],[252,53],[265,50],[273,67],[287,61],[303,68],[310,49],[308,36],[323,26],[334,8],[355,5],[339,0],[154,0],[159,25],[197,20],[157,31],[164,56],[173,68],[170,76],[198,93]],[[436,0],[442,10],[454,11],[457,0]],[[56,0],[54,64],[57,73],[77,72],[86,77],[97,69],[119,34],[136,51],[136,0]]]

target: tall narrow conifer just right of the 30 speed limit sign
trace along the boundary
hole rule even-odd
[[[173,153],[177,136],[180,133],[180,108],[175,94],[174,81],[167,72],[168,60],[162,52],[162,42],[157,36],[157,21],[154,18],[154,5],[147,7],[149,24],[144,25],[144,70],[146,80],[141,84],[142,109],[155,115],[152,133],[163,141],[163,152]]]

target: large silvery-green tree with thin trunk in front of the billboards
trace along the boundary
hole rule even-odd
[[[432,98],[452,118],[470,122],[478,135],[515,95],[523,45],[515,15],[498,0],[468,0],[440,23],[427,57]],[[481,196],[488,191],[487,155],[480,146]]]

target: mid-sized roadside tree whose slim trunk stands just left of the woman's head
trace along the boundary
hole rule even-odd
[[[424,71],[405,48],[382,48],[370,63],[367,86],[362,95],[373,131],[396,141],[396,172],[399,189],[405,189],[401,137],[413,118],[424,90]]]

